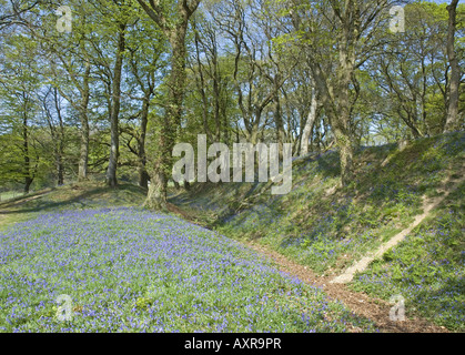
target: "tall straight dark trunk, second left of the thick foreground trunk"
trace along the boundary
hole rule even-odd
[[[120,114],[120,103],[121,103],[121,70],[123,67],[123,51],[124,51],[124,30],[125,24],[120,24],[120,31],[118,34],[118,50],[117,50],[117,60],[114,63],[114,77],[113,77],[113,90],[112,90],[112,105],[111,105],[111,148],[110,148],[110,161],[107,171],[107,184],[109,186],[115,187],[118,185],[117,180],[117,166],[118,166],[118,155],[119,155],[119,128],[118,120]]]

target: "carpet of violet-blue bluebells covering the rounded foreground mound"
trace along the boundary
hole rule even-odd
[[[71,308],[58,296],[68,295]],[[71,313],[70,313],[71,311]],[[133,207],[0,232],[0,332],[376,331],[237,242]]]

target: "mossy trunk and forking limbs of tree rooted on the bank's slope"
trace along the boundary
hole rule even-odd
[[[295,1],[299,8],[299,1]],[[362,11],[362,4],[354,0],[331,1],[327,8],[328,14],[334,17],[334,42],[332,48],[334,52],[328,53],[315,47],[314,40],[317,36],[319,24],[300,14],[299,9],[291,12],[294,28],[301,33],[305,33],[304,43],[306,45],[305,54],[309,67],[312,71],[319,99],[322,102],[325,114],[328,119],[335,143],[340,150],[341,158],[341,180],[344,186],[348,185],[353,176],[353,155],[354,155],[354,135],[352,132],[352,109],[357,99],[356,69],[357,53],[362,43],[362,31],[375,31],[376,13],[386,8],[386,3],[377,2],[373,7],[373,16],[367,17]],[[309,28],[311,31],[309,31]],[[367,30],[371,29],[371,30]],[[366,36],[371,37],[374,33]],[[357,50],[356,50],[357,49]],[[360,55],[360,53],[358,53]],[[325,68],[327,59],[332,62],[331,72]],[[363,62],[363,61],[362,61]]]

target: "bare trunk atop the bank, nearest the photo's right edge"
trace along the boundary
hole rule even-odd
[[[457,4],[458,0],[453,0],[447,7],[448,11],[448,31],[447,31],[447,58],[451,63],[451,84],[449,84],[449,100],[447,109],[447,119],[444,132],[452,132],[458,129],[458,87],[461,84],[461,68],[458,67],[458,59],[455,53],[454,39],[455,29],[457,26]]]

